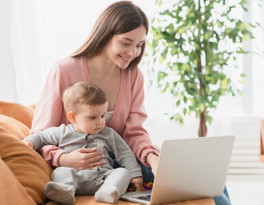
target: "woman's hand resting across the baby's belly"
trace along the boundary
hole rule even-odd
[[[62,154],[59,165],[77,170],[92,169],[105,163],[105,161],[99,161],[102,158],[102,152],[96,148],[80,148],[68,154]]]

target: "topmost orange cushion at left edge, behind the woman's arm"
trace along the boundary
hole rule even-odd
[[[34,109],[16,102],[0,101],[0,114],[8,115],[10,118],[14,118],[19,122],[22,122],[30,129],[34,115]]]

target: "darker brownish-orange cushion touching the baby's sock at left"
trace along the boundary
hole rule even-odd
[[[52,169],[42,156],[0,127],[0,157],[34,202],[43,203],[44,185],[51,180]]]

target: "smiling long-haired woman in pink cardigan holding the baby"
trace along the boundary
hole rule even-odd
[[[109,5],[81,48],[71,57],[57,61],[51,69],[36,107],[31,133],[68,124],[62,107],[62,90],[70,83],[88,81],[107,94],[106,126],[123,137],[142,163],[144,181],[153,181],[159,152],[142,127],[146,120],[144,79],[137,68],[147,33],[148,19],[137,5],[131,1]],[[55,167],[91,169],[103,163],[98,161],[102,155],[95,148],[66,153],[49,146],[43,149],[43,155]]]

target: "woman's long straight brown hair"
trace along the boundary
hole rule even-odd
[[[83,45],[75,53],[72,53],[71,57],[100,55],[114,35],[127,33],[142,25],[146,27],[146,33],[148,33],[148,18],[137,5],[131,1],[112,3],[98,16],[92,33]],[[136,68],[140,63],[145,46],[145,43],[142,44],[140,55],[130,62],[129,69]]]

